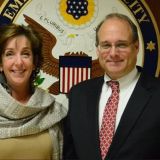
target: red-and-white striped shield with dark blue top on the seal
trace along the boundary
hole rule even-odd
[[[90,79],[91,57],[87,56],[60,56],[60,92],[68,93],[77,83]]]

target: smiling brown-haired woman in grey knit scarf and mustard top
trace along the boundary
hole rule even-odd
[[[0,27],[0,159],[62,159],[67,110],[35,86],[42,39],[32,28]]]

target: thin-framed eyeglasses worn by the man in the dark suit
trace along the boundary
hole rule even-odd
[[[98,45],[98,49],[100,52],[109,52],[113,47],[116,51],[123,52],[126,51],[133,42],[117,42],[115,44],[111,43],[101,43]]]

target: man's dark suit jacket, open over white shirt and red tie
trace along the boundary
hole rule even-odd
[[[73,87],[64,128],[65,160],[101,160],[98,104],[104,78]],[[160,80],[141,74],[106,160],[160,159]]]

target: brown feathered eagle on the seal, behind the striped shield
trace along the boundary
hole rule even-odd
[[[57,42],[56,37],[51,32],[49,32],[47,29],[45,29],[42,25],[40,25],[35,20],[33,20],[31,17],[25,14],[23,16],[24,16],[25,22],[29,26],[33,27],[37,32],[39,32],[43,38],[42,54],[44,57],[44,62],[43,62],[41,70],[44,73],[49,74],[59,79],[59,59],[55,58],[54,53],[52,53],[52,49],[54,48]],[[88,55],[82,51],[79,51],[76,53],[66,52],[64,53],[64,56],[88,56]],[[104,72],[99,65],[99,60],[98,59],[92,60],[91,78],[95,78],[103,74]],[[48,88],[48,90],[50,93],[54,95],[60,94],[59,80],[54,82]]]

